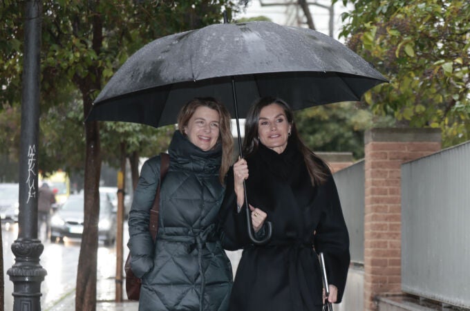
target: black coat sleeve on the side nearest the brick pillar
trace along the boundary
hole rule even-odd
[[[344,294],[350,263],[349,234],[335,180],[330,176],[321,187],[324,187],[325,197],[314,236],[314,247],[318,254],[323,252],[328,283],[338,288],[337,303],[339,303]]]

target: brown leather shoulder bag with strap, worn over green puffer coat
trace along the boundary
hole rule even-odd
[[[157,193],[155,200],[153,200],[153,206],[150,210],[150,222],[149,222],[149,231],[153,239],[153,243],[157,239],[158,232],[158,213],[160,209],[160,185],[162,185],[162,180],[167,174],[170,159],[168,153],[160,153],[160,181],[158,182]],[[131,270],[131,252],[127,256],[126,263],[124,265],[124,271],[126,272],[126,293],[129,300],[139,300],[140,296],[140,285],[142,281],[133,274]]]

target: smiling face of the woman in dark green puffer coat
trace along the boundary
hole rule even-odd
[[[184,128],[190,142],[203,151],[208,151],[217,143],[220,116],[214,109],[199,106]]]

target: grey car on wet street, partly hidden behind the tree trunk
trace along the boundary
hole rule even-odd
[[[82,238],[84,223],[84,195],[68,197],[50,219],[50,241],[64,241],[64,237]],[[113,245],[116,238],[116,213],[108,196],[100,196],[98,239],[104,245]]]

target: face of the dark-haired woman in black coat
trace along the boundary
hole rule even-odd
[[[270,104],[259,113],[258,136],[262,144],[282,153],[288,144],[291,126],[282,106]]]

